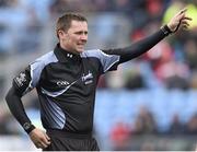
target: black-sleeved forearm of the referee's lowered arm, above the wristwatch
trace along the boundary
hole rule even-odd
[[[16,120],[21,124],[22,127],[25,122],[31,122],[24,110],[21,96],[18,94],[16,90],[13,86],[8,92],[5,101],[12,115],[16,118]]]

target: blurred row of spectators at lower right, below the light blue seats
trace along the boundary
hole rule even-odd
[[[166,131],[160,131],[158,128],[158,124],[155,121],[155,117],[153,114],[146,107],[142,106],[139,109],[139,114],[135,120],[134,128],[124,124],[121,121],[114,125],[111,130],[109,139],[113,143],[113,150],[144,150],[144,151],[155,151],[155,150],[172,150],[173,144],[165,145],[165,140],[161,140],[160,142],[163,144],[157,145],[157,139],[150,140],[151,137],[163,137],[166,139],[182,139],[185,137],[185,140],[188,141],[187,137],[196,137],[197,135],[197,114],[193,115],[187,124],[183,124],[179,119],[178,114],[174,114],[170,128]],[[135,145],[135,139],[141,137],[144,140],[141,140],[140,145]],[[147,139],[146,139],[147,138]],[[196,139],[196,138],[194,138]],[[158,138],[160,140],[160,138]],[[148,143],[148,145],[147,145]],[[186,143],[186,142],[185,142]],[[188,143],[186,143],[188,144]],[[194,150],[195,143],[190,142],[188,145],[182,145],[182,142],[176,145],[177,149],[173,150]]]

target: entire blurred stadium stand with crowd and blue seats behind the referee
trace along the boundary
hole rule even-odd
[[[4,95],[19,71],[54,49],[59,15],[84,14],[86,49],[105,49],[150,35],[185,7],[193,17],[189,31],[169,36],[100,79],[94,135],[101,150],[194,150],[197,0],[0,0],[0,150],[36,150],[8,110]],[[36,92],[23,101],[32,121],[42,128]]]

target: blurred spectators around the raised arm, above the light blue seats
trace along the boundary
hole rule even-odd
[[[127,1],[132,3],[131,1]],[[167,40],[160,42],[142,57],[119,68],[119,81],[113,77],[104,79],[103,87],[135,89],[179,89],[197,87],[197,9],[196,1],[161,1],[147,0],[135,2],[127,12],[132,23],[130,40],[136,42],[153,33],[161,24],[165,24],[181,8],[188,8],[193,17],[189,31],[177,33]],[[139,4],[139,5],[138,5]],[[129,5],[129,4],[128,4]],[[129,69],[129,70],[128,70]],[[121,79],[124,78],[124,79]],[[106,80],[106,81],[105,81]]]

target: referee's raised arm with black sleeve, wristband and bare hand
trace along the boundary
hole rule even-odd
[[[119,63],[139,57],[140,55],[150,50],[153,46],[155,46],[160,40],[162,40],[167,35],[173,34],[178,30],[187,28],[189,26],[188,21],[190,21],[192,19],[186,16],[185,12],[186,9],[181,10],[176,15],[174,15],[174,17],[172,17],[172,20],[166,25],[162,26],[158,32],[155,32],[154,34],[148,37],[144,37],[139,42],[131,44],[128,47],[118,48],[118,49],[108,49],[103,51],[108,55],[120,56]]]

